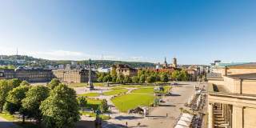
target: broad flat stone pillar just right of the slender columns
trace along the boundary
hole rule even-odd
[[[243,106],[233,105],[232,127],[243,128]]]

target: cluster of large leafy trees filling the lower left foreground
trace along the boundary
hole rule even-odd
[[[82,100],[57,79],[47,86],[30,86],[18,79],[0,81],[0,111],[21,114],[23,122],[27,117],[49,128],[73,127],[80,119],[79,106],[86,104]]]

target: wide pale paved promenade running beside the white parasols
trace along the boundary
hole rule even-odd
[[[157,126],[172,128],[180,114],[179,108],[185,107],[184,104],[194,94],[195,84],[197,82],[179,82],[179,85],[172,89],[174,95],[163,98],[165,102],[161,106],[150,110],[149,117],[143,118],[136,114],[120,114],[120,117],[108,120],[108,124],[104,124],[103,127],[121,127],[121,125],[125,126],[127,122],[128,127],[134,128],[138,127],[138,122],[140,122],[140,127],[155,128]],[[168,117],[166,117],[166,114]]]

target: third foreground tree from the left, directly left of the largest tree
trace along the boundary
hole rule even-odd
[[[26,98],[22,100],[22,108],[30,118],[34,118],[38,123],[42,119],[42,112],[39,106],[49,96],[49,91],[46,86],[33,86],[26,92]]]

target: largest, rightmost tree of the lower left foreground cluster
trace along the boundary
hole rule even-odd
[[[42,122],[47,128],[70,128],[80,119],[78,101],[74,89],[60,84],[50,91],[42,102]]]

